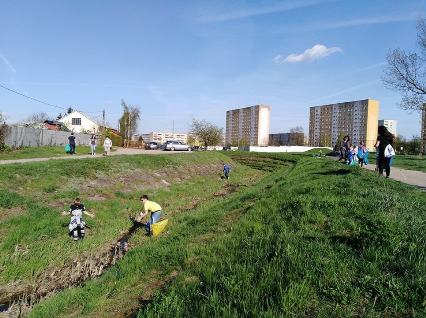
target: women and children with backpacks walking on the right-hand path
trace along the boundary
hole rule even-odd
[[[383,176],[384,170],[386,172],[386,178],[389,178],[390,162],[392,156],[386,153],[386,148],[389,145],[390,147],[393,146],[395,137],[387,130],[385,126],[382,125],[378,126],[377,133],[378,136],[374,147],[377,149],[377,167],[379,177]],[[347,165],[352,165],[353,162],[355,162],[355,164],[357,163],[358,167],[362,167],[364,164],[367,164],[368,149],[365,148],[364,142],[360,141],[358,146],[350,146],[349,140],[349,136],[346,135],[340,141],[340,158],[338,159],[338,161],[343,159],[344,163]],[[393,148],[391,149],[393,151]]]

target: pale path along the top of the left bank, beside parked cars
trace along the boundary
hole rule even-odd
[[[115,155],[150,155],[150,154],[172,154],[172,153],[192,153],[191,151],[166,151],[166,150],[145,150],[145,149],[133,149],[133,148],[117,148],[114,147],[115,151],[109,153],[110,156]],[[78,148],[77,148],[78,151]],[[92,156],[90,154],[85,155],[66,155],[60,157],[50,157],[50,158],[30,158],[30,159],[10,159],[10,160],[0,160],[0,165],[9,164],[9,163],[24,163],[24,162],[34,162],[34,161],[47,161],[47,160],[57,160],[57,159],[81,159],[81,158],[104,158],[102,154],[97,154]]]

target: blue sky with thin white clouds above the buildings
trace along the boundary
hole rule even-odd
[[[152,2],[152,3],[147,3]],[[155,2],[155,3],[154,3]],[[0,3],[0,110],[7,122],[71,106],[117,127],[121,99],[136,133],[185,133],[191,117],[270,105],[270,133],[302,126],[309,107],[378,99],[397,133],[420,134],[380,81],[389,48],[418,52],[424,0],[51,1]]]

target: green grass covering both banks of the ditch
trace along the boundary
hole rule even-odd
[[[426,316],[426,194],[414,187],[303,154],[104,159],[1,167],[0,209],[22,211],[1,220],[1,285],[89,259],[131,226],[142,192],[169,220],[155,239],[136,231],[115,266],[28,317]],[[78,244],[58,213],[75,195],[96,214]]]

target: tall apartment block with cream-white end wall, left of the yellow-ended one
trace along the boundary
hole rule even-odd
[[[270,106],[256,105],[226,112],[225,144],[267,146]]]

